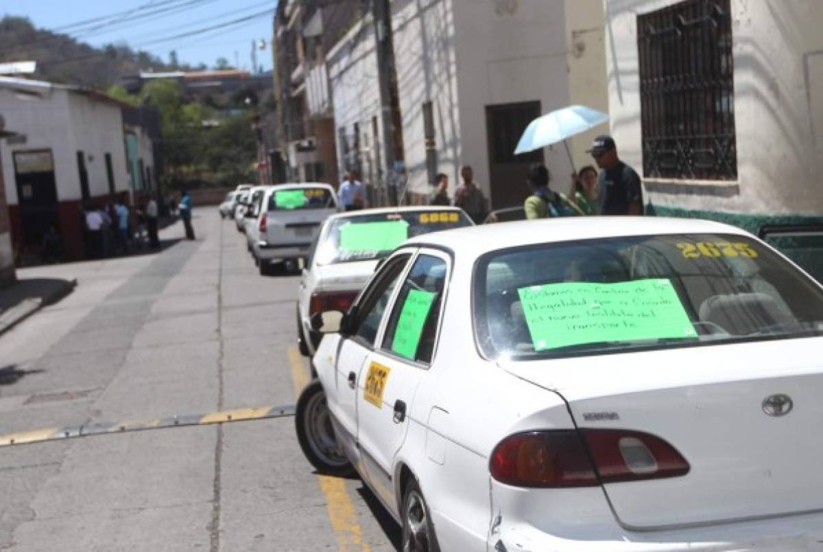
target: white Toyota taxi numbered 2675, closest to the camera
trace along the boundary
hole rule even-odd
[[[820,550],[823,288],[756,237],[666,218],[419,236],[300,396],[403,550]]]

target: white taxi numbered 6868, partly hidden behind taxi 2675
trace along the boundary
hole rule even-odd
[[[457,207],[393,207],[338,213],[326,219],[306,259],[297,296],[300,353],[311,356],[322,334],[311,327],[318,312],[348,310],[379,260],[403,241],[429,232],[472,226]]]

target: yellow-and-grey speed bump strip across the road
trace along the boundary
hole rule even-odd
[[[120,422],[90,422],[63,428],[42,428],[0,435],[0,447],[59,441],[73,437],[91,437],[109,433],[146,431],[148,429],[181,428],[212,423],[247,422],[254,419],[284,418],[295,415],[295,405],[260,406],[209,412],[207,414],[177,414],[167,418],[122,420]]]

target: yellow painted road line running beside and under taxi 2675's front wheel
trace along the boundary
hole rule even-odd
[[[300,391],[309,384],[309,369],[296,347],[289,348],[286,356],[289,358],[291,383],[295,387],[296,399],[300,396]],[[318,475],[318,479],[320,489],[326,497],[328,519],[332,522],[332,529],[337,537],[337,550],[368,552],[370,548],[363,542],[363,530],[357,522],[357,512],[346,490],[346,480],[328,475]]]

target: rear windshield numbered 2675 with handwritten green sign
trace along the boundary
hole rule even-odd
[[[632,236],[495,251],[474,276],[488,358],[820,335],[823,292],[745,236]]]

